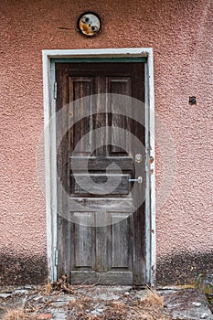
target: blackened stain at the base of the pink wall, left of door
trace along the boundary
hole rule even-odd
[[[0,286],[45,283],[47,272],[45,256],[0,253]]]

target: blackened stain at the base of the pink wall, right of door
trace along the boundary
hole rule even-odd
[[[213,273],[213,252],[170,254],[157,260],[157,284],[194,283],[198,273]]]

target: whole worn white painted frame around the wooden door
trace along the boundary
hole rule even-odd
[[[150,157],[154,156],[154,55],[153,48],[98,48],[98,49],[48,49],[42,50],[43,92],[44,92],[44,142],[45,142],[45,182],[46,182],[46,223],[48,279],[57,280],[57,151],[56,123],[48,123],[56,111],[55,61],[54,59],[109,59],[145,57],[145,151],[146,151],[146,193],[145,201],[145,248],[146,248],[146,283],[155,283],[155,171],[154,163],[150,165]],[[128,63],[128,62],[127,62]],[[152,175],[150,169],[152,166]]]

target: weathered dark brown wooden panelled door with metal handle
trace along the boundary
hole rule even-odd
[[[132,133],[144,144],[144,126],[140,124],[144,107],[142,103],[140,112],[133,116],[138,122],[130,116],[116,114],[113,94],[144,101],[144,63],[58,62],[56,81],[57,111],[71,101],[88,97],[65,108],[63,120],[57,124],[59,133],[64,122],[78,119],[64,135],[58,150],[59,180],[67,191],[67,197],[58,193],[58,277],[67,274],[70,283],[141,285],[145,283],[144,202],[132,211],[135,202],[144,197],[144,182],[129,180],[137,177],[135,165],[140,168],[140,176],[145,176],[145,156],[140,151],[142,159],[135,162],[135,153],[127,152],[120,142],[130,147],[133,141],[128,133]],[[130,100],[124,103],[122,100],[122,104],[123,110],[128,108],[133,114]],[[85,110],[91,105],[97,113],[88,115]],[[123,134],[111,132],[109,127],[122,128]],[[100,141],[97,144],[87,133],[100,128],[101,144]],[[83,136],[87,143],[81,147]],[[90,191],[92,187],[86,177],[83,164],[88,158],[88,171],[97,193]],[[78,164],[75,176],[71,167],[73,159]],[[108,165],[111,166],[106,176]],[[119,186],[104,193],[104,183],[111,179],[113,186],[118,176]]]

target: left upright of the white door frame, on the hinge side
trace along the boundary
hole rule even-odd
[[[44,139],[45,139],[45,177],[46,177],[46,229],[48,250],[48,279],[57,279],[54,252],[57,249],[57,159],[56,159],[56,123],[49,120],[55,114],[51,80],[55,71],[51,70],[50,59],[43,53],[43,86],[44,86]],[[47,130],[47,128],[49,130]]]

